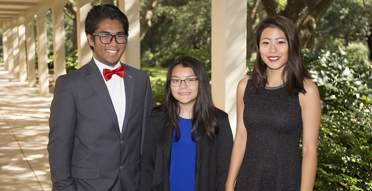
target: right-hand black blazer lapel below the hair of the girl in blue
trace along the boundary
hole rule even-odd
[[[196,158],[195,158],[195,175],[199,170],[201,163],[208,155],[209,151],[213,148],[214,143],[209,138],[207,134],[205,134],[200,140],[196,143]]]

